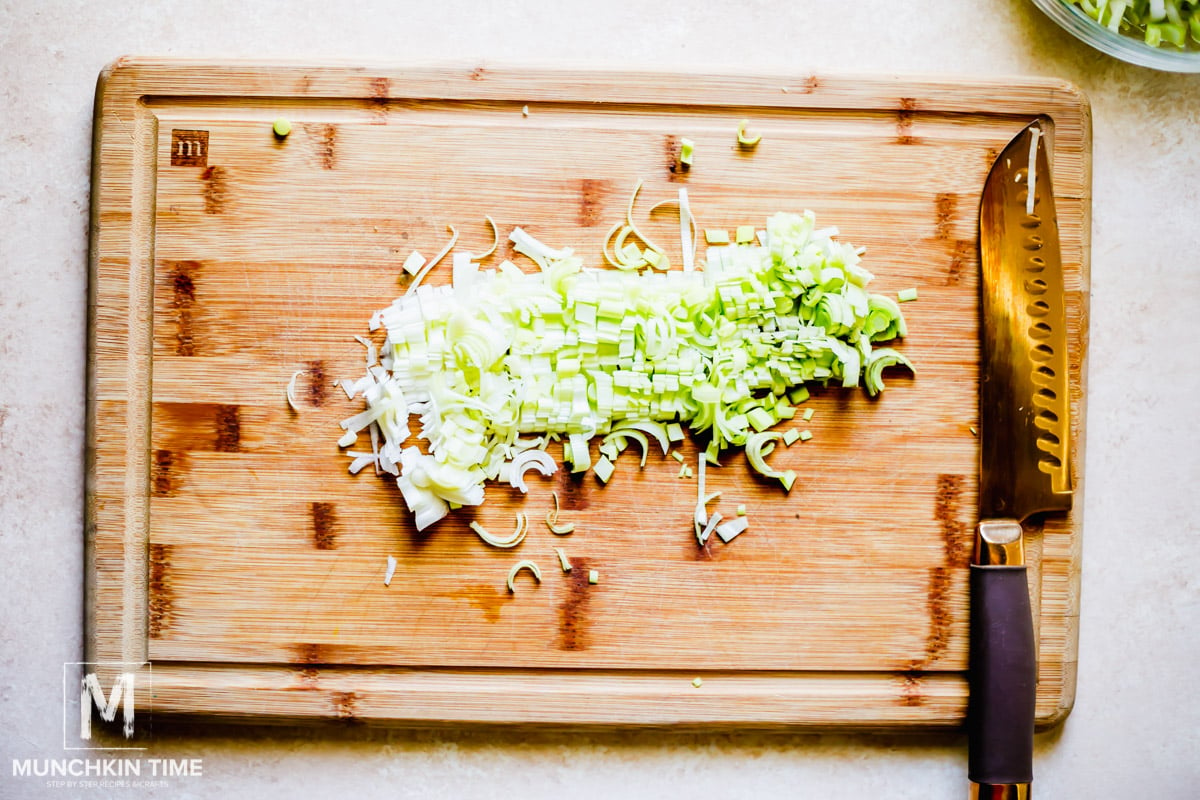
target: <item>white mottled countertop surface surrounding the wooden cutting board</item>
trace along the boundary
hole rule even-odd
[[[92,92],[119,55],[1036,74],[1092,101],[1093,234],[1075,710],[1039,798],[1200,786],[1200,76],[1102,56],[1025,0],[0,2],[0,796],[964,798],[961,735],[180,730],[157,789],[13,776],[61,758],[82,658]],[[647,4],[649,5],[649,4]]]

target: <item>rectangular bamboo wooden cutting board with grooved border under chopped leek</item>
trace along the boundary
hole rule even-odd
[[[953,727],[964,718],[978,475],[978,203],[1032,118],[1052,132],[1084,463],[1091,128],[1055,80],[724,76],[120,60],[92,193],[90,661],[152,664],[154,712],[223,718]],[[271,124],[286,118],[287,138]],[[739,149],[749,120],[762,133]],[[680,138],[696,143],[677,169]],[[746,534],[696,546],[695,480],[660,453],[490,486],[416,534],[347,471],[334,381],[364,372],[410,251],[491,243],[485,215],[600,265],[604,234],[686,187],[702,228],[811,209],[916,287],[914,378],[814,391],[796,488],[709,470]],[[643,204],[644,205],[641,205]],[[642,216],[680,263],[672,215]],[[514,257],[502,243],[485,260]],[[449,259],[448,259],[449,260]],[[524,269],[536,269],[524,263]],[[446,269],[431,282],[446,279]],[[300,410],[284,386],[296,371]],[[695,463],[691,443],[680,447]],[[514,551],[468,528],[540,519]],[[1074,696],[1081,501],[1031,529],[1043,727]],[[559,570],[553,547],[574,569]],[[397,559],[384,585],[386,558]],[[518,559],[542,582],[505,588]],[[600,581],[590,585],[589,570]],[[695,687],[694,678],[703,685]]]

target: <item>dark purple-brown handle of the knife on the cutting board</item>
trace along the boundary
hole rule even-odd
[[[971,565],[972,796],[1027,798],[1033,778],[1037,663],[1024,564]]]

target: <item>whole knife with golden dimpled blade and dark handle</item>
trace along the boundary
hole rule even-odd
[[[971,561],[968,777],[972,800],[1026,800],[1037,656],[1021,523],[1072,504],[1062,254],[1040,121],[1021,131],[988,174],[979,257],[980,469]]]

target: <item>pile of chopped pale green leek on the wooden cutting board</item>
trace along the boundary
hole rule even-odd
[[[352,471],[373,464],[395,475],[418,529],[481,504],[490,480],[523,491],[529,468],[553,471],[552,458],[533,455],[552,443],[572,471],[607,481],[630,441],[644,465],[650,439],[667,453],[682,425],[707,439],[702,480],[703,461],[718,463],[728,447],[751,443],[762,462],[779,437],[762,432],[792,419],[805,384],[862,384],[874,395],[883,367],[910,366],[875,347],[905,335],[904,317],[868,291],[860,251],[835,228],[818,229],[809,211],[776,213],[763,230],[708,247],[701,263],[684,193],[678,205],[682,270],[644,253],[629,261],[644,269],[592,269],[520,228],[510,239],[535,272],[508,260],[481,269],[479,257],[456,253],[452,285],[416,285],[450,248],[424,264],[404,296],[371,318],[386,338],[378,353],[367,344],[367,374],[343,381],[366,410],[341,423],[338,444],[362,432],[371,440],[370,452],[349,452]],[[628,222],[636,231],[632,203]],[[406,446],[413,417],[424,452]],[[794,474],[755,465],[791,488]]]

